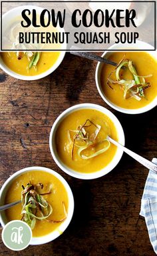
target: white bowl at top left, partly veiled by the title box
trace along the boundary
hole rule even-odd
[[[37,7],[35,5],[23,5],[23,6],[19,6],[19,7],[15,7],[13,9],[11,9],[10,11],[7,11],[3,17],[2,17],[2,21],[3,21],[3,30],[5,31],[5,29],[7,28],[8,24],[11,23],[11,21],[13,19],[15,19],[15,17],[19,16],[19,13],[21,13],[21,11],[23,11],[23,9],[36,9],[36,11],[38,13],[41,13],[41,11],[43,11],[42,7]],[[61,32],[65,32],[64,29],[62,29],[61,27],[57,27],[57,29]],[[64,43],[61,47],[61,49],[66,49],[67,48],[67,44]],[[42,50],[41,50],[42,51]],[[53,71],[55,71],[55,69],[57,69],[57,67],[59,67],[59,65],[61,64],[61,62],[63,61],[65,57],[65,51],[60,51],[60,55],[57,59],[57,61],[55,62],[55,64],[53,64],[53,66],[48,69],[47,71],[39,74],[39,75],[20,75],[18,73],[15,73],[14,71],[12,71],[11,69],[9,69],[9,67],[7,67],[7,65],[5,65],[3,59],[1,58],[0,55],[0,68],[3,69],[3,71],[5,71],[5,73],[7,73],[8,75],[11,75],[11,77],[15,77],[16,79],[21,79],[21,80],[27,80],[27,81],[33,81],[33,80],[37,80],[37,79],[41,79],[43,77],[46,77],[47,75],[53,73]]]

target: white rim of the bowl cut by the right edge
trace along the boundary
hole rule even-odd
[[[137,43],[138,45],[142,45],[142,47],[152,47],[152,45],[146,43],[146,42],[143,42],[143,41],[139,41],[137,40]],[[112,50],[112,49],[117,49],[117,47],[119,49],[122,49],[122,47],[124,47],[124,45],[122,44],[119,44],[119,45],[111,45],[108,49]],[[128,47],[132,48],[130,45],[128,45]],[[134,48],[136,49],[136,47]],[[134,49],[132,49],[132,51],[134,51]],[[152,47],[152,49],[154,49]],[[112,54],[112,52],[116,52],[116,51],[104,51],[104,53],[102,53],[101,57],[104,57],[105,55],[107,54]],[[157,50],[156,51],[144,51],[144,52],[148,52],[150,55],[153,55],[156,54],[156,59],[157,59]],[[151,101],[150,103],[148,103],[148,105],[144,106],[144,107],[140,107],[138,109],[126,109],[124,107],[119,107],[118,105],[112,103],[112,101],[110,101],[104,94],[103,90],[102,90],[102,87],[100,85],[100,73],[101,73],[101,68],[102,68],[102,63],[100,63],[100,61],[97,63],[96,65],[96,71],[95,71],[95,82],[96,82],[96,88],[98,90],[98,93],[100,94],[100,97],[102,97],[102,99],[104,100],[104,102],[109,105],[110,107],[112,107],[113,109],[115,109],[116,111],[119,111],[121,113],[126,113],[126,114],[131,114],[131,115],[134,115],[134,114],[140,114],[140,113],[145,113],[151,109],[153,109],[154,107],[156,107],[157,105],[157,96],[154,98],[153,101]]]

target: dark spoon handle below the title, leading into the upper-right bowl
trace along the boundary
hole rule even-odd
[[[92,59],[93,61],[104,62],[104,63],[110,64],[114,67],[117,66],[117,63],[115,63],[114,61],[110,61],[108,59],[102,58],[96,54],[88,53],[88,52],[84,52],[84,51],[73,51],[73,47],[71,47],[71,54],[77,55],[79,57],[84,57],[86,59]]]

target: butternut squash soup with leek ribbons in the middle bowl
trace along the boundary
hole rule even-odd
[[[59,158],[80,173],[100,171],[116,153],[107,135],[118,140],[114,123],[104,113],[95,109],[74,111],[61,121],[55,134]]]

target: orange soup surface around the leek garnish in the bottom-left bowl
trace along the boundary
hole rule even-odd
[[[7,191],[5,203],[11,203],[13,201],[18,201],[19,199],[21,199],[21,192],[23,191],[22,186],[26,188],[27,183],[31,183],[33,185],[42,183],[43,193],[45,193],[45,195],[43,195],[43,198],[52,207],[52,213],[47,219],[36,220],[35,227],[33,228],[33,237],[41,237],[55,231],[55,229],[59,230],[59,226],[62,222],[57,221],[65,218],[63,203],[65,205],[66,211],[68,211],[69,207],[68,195],[63,183],[61,183],[61,181],[59,181],[59,179],[57,179],[57,177],[55,177],[51,173],[47,173],[44,171],[28,171],[21,174],[13,181]],[[51,193],[47,194],[47,190],[49,190],[50,185]],[[12,221],[14,219],[22,219],[23,215],[21,215],[21,210],[21,203],[7,209],[5,212],[8,221]]]

